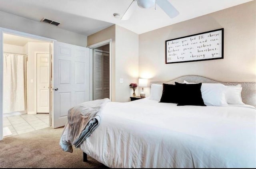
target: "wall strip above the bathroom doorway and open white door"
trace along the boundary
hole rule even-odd
[[[0,11],[0,27],[48,37],[72,45],[87,46],[87,36],[2,11]]]

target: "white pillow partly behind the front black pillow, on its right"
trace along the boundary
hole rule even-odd
[[[183,83],[194,84],[184,81]],[[227,86],[220,83],[202,83],[201,93],[206,106],[228,106]]]

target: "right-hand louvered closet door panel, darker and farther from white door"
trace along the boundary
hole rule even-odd
[[[109,54],[103,53],[103,98],[109,98]]]

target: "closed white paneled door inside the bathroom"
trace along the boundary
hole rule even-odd
[[[49,113],[49,53],[36,54],[37,70],[36,70],[36,112]]]

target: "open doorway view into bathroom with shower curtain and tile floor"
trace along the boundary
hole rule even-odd
[[[2,39],[3,136],[50,126],[51,43],[9,33],[3,33]]]

